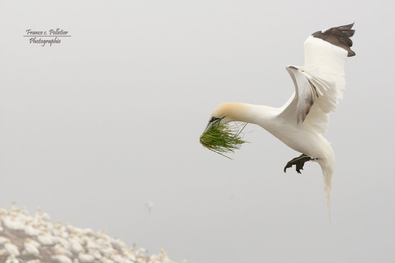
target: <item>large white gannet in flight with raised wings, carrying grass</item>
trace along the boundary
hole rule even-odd
[[[304,43],[305,65],[287,66],[295,92],[280,108],[245,103],[223,103],[209,118],[205,132],[214,124],[232,121],[257,124],[281,142],[302,153],[284,167],[296,165],[301,173],[307,161],[319,163],[323,173],[324,190],[329,209],[330,189],[335,163],[333,150],[322,136],[328,128],[330,112],[336,112],[346,84],[346,58],[355,56],[350,49],[353,24],[328,28],[312,34]]]

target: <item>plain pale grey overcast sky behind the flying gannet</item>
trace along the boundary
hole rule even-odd
[[[108,229],[196,263],[394,262],[394,1],[0,1],[0,205]],[[312,33],[355,21],[317,163],[249,124],[229,160],[198,143],[223,102],[280,107]],[[63,29],[41,47],[25,30]],[[145,203],[155,205],[151,213]]]

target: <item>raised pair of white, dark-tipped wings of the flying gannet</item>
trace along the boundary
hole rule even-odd
[[[297,125],[308,125],[326,133],[330,112],[336,112],[346,85],[346,58],[354,56],[350,37],[354,23],[318,31],[306,39],[305,65],[287,66],[295,85],[295,94],[283,106],[280,117]]]

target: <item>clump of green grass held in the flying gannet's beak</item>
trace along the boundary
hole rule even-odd
[[[233,153],[235,150],[240,149],[243,143],[248,143],[243,141],[243,136],[240,135],[246,124],[241,123],[240,125],[232,126],[225,124],[220,126],[218,123],[214,123],[207,132],[200,135],[200,144],[208,150],[232,159],[225,154]],[[240,129],[240,127],[242,128]]]

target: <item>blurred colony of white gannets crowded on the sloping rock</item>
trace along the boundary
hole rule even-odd
[[[0,208],[0,263],[172,263],[161,249],[127,247],[106,230],[93,231],[59,221],[51,223],[39,208],[33,217],[26,207]],[[183,263],[186,263],[184,261]]]

